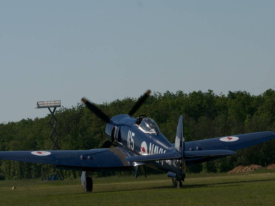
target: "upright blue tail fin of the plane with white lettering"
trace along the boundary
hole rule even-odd
[[[184,157],[184,130],[183,130],[183,116],[180,115],[180,118],[178,119],[178,128],[176,133],[176,139],[175,139],[175,149],[180,153],[181,157]]]

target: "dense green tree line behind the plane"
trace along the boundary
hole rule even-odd
[[[124,98],[97,106],[109,117],[127,114],[136,98]],[[184,116],[185,141],[260,131],[275,132],[275,90],[251,95],[246,91],[215,94],[194,91],[186,94],[154,92],[134,114],[146,114],[155,120],[160,131],[174,143],[180,114]],[[105,141],[106,124],[83,104],[61,107],[55,113],[62,150],[99,148]],[[49,115],[44,118],[22,119],[0,124],[0,150],[49,150]],[[275,163],[275,140],[237,151],[237,155],[187,167],[187,172],[227,172],[238,165]],[[153,172],[149,170],[149,172]],[[28,179],[52,174],[49,165],[0,160],[0,179]],[[109,175],[95,173],[95,176]],[[81,172],[63,171],[65,178]]]

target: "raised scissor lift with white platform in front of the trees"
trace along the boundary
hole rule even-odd
[[[45,102],[37,102],[37,106],[36,106],[36,109],[40,109],[40,108],[48,108],[50,113],[51,113],[51,116],[50,116],[50,119],[48,121],[48,123],[50,124],[52,130],[51,130],[51,133],[50,133],[50,139],[52,140],[52,147],[51,147],[51,150],[54,149],[54,147],[56,147],[56,150],[60,150],[60,146],[58,145],[57,143],[57,140],[58,140],[58,137],[59,137],[59,134],[56,132],[56,124],[57,124],[57,118],[54,116],[54,112],[56,110],[57,107],[61,107],[61,100],[56,100],[56,101],[45,101]],[[50,108],[54,108],[53,110],[51,110]],[[52,118],[54,118],[54,124],[52,124]],[[52,135],[55,134],[56,137],[55,139],[52,138]],[[61,179],[61,176],[59,175],[59,172],[58,172],[58,169],[56,169],[55,165],[52,165],[52,168],[54,169],[55,173],[54,175],[57,175],[59,177],[59,179]],[[62,175],[63,176],[63,175]],[[64,177],[63,177],[64,179]]]

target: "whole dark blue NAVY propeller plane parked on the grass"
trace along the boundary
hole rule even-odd
[[[101,148],[91,150],[3,151],[0,159],[44,163],[56,168],[82,171],[81,182],[86,191],[93,190],[87,171],[135,171],[141,169],[146,177],[145,165],[167,173],[175,187],[182,187],[185,169],[194,165],[236,154],[234,151],[275,137],[273,132],[239,134],[191,142],[184,141],[183,116],[180,115],[175,143],[171,144],[160,132],[154,120],[146,115],[133,114],[150,94],[148,90],[133,106],[129,114],[109,118],[85,98],[82,102],[107,123],[107,140]],[[113,147],[111,147],[113,146]]]

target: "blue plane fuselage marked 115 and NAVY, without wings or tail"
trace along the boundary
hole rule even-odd
[[[137,118],[128,114],[114,116],[106,126],[107,139],[132,156],[178,152],[161,132],[146,132],[136,122]],[[177,159],[144,163],[144,165],[154,169],[175,173],[181,173],[181,164],[181,161]]]

